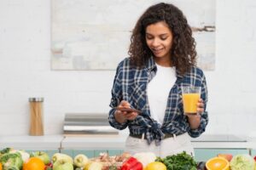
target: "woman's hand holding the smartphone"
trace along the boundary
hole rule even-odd
[[[131,108],[131,105],[125,101],[122,100],[118,106],[118,108]],[[132,121],[136,119],[137,117],[137,112],[131,112],[131,111],[115,111],[114,113],[115,119],[119,123],[126,122],[127,120]]]

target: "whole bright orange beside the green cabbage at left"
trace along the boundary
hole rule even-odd
[[[44,170],[44,161],[38,157],[31,157],[23,163],[22,170]]]

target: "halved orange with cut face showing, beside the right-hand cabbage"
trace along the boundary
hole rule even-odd
[[[230,162],[223,157],[212,157],[206,166],[208,170],[229,170]]]

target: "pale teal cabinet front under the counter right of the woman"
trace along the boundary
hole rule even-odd
[[[195,149],[195,161],[207,161],[218,154],[249,154],[248,150],[225,150],[225,149]]]

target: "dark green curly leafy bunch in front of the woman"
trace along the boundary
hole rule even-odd
[[[166,158],[158,157],[156,161],[163,162],[167,170],[196,170],[194,158],[186,154],[185,151],[174,156],[166,156]]]

